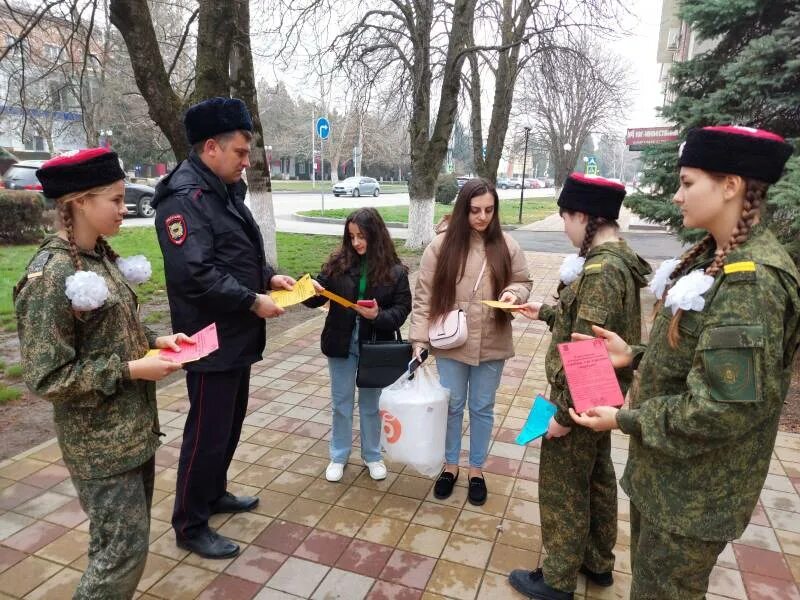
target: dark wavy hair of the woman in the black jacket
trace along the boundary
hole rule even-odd
[[[397,257],[392,237],[380,213],[371,206],[354,210],[344,222],[342,245],[334,250],[328,261],[322,265],[322,273],[327,277],[341,277],[358,266],[361,257],[350,241],[350,223],[355,223],[367,240],[367,280],[370,285],[393,283],[392,269],[403,265]],[[408,267],[403,265],[408,272]]]

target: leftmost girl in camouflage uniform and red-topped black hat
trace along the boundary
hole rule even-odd
[[[89,565],[74,597],[127,600],[149,543],[159,445],[152,381],[180,368],[143,357],[153,347],[177,348],[185,336],[156,338],[142,326],[136,293],[101,237],[116,233],[126,212],[117,155],[97,148],[56,157],[37,176],[57,198],[62,228],[14,289],[25,381],[53,403],[64,462],[89,516]],[[76,272],[105,289],[105,301],[102,292],[76,298],[73,287],[71,303],[67,280]]]

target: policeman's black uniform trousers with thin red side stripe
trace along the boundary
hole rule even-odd
[[[247,414],[250,367],[186,374],[189,415],[183,428],[172,527],[178,539],[208,527],[211,506],[225,494],[242,422]]]

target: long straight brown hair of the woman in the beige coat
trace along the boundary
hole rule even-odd
[[[456,284],[464,277],[472,236],[472,227],[469,224],[470,202],[484,194],[494,197],[494,214],[483,232],[486,264],[489,267],[487,273],[492,277],[494,296],[499,296],[511,281],[511,254],[500,227],[500,199],[497,190],[485,179],[470,179],[458,192],[453,216],[444,233],[444,242],[433,275],[433,289],[436,293],[431,299],[432,321],[444,316],[455,304]],[[470,275],[477,277],[478,274]]]

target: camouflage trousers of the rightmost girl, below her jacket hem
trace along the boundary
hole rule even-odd
[[[702,600],[725,543],[661,529],[631,503],[631,600]]]

